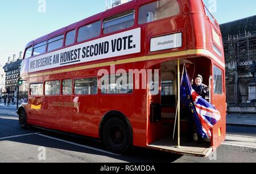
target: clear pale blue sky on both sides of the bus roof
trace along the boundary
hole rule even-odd
[[[13,54],[18,56],[29,41],[104,11],[106,7],[105,0],[45,0],[46,12],[40,13],[39,1],[42,0],[1,2],[0,65],[5,65],[8,56]],[[213,15],[218,23],[256,14],[255,0],[204,0],[204,2],[209,8],[216,4]]]

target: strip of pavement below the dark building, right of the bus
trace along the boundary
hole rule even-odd
[[[228,114],[226,117],[226,124],[256,127],[256,115]]]

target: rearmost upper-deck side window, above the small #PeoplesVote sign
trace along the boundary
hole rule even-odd
[[[153,22],[180,14],[180,6],[177,0],[160,0],[139,9],[139,24]]]

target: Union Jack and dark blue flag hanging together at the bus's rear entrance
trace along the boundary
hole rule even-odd
[[[181,103],[189,109],[195,120],[197,134],[201,135],[202,138],[211,138],[210,129],[220,120],[220,112],[193,90],[185,65],[180,93]]]

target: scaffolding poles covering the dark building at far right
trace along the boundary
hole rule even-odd
[[[245,31],[235,36],[224,37],[223,45],[227,65],[228,104],[255,102],[255,90],[252,90],[251,86],[254,82],[251,65],[256,60],[256,31]]]

